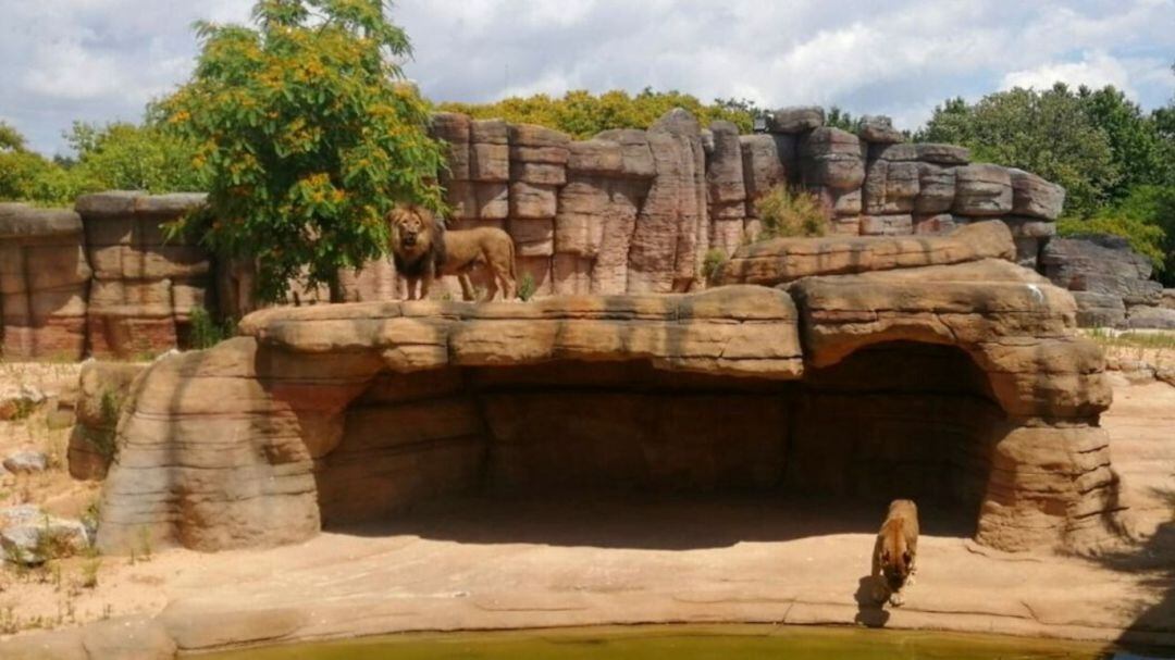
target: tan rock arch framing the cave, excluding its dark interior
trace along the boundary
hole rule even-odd
[[[791,413],[785,409],[792,404],[787,402],[824,396],[820,388],[827,380],[808,383],[810,376],[825,379],[833,373],[830,369],[852,356],[867,357],[874,346],[900,356],[919,345],[946,346],[947,351],[932,350],[921,357],[915,351],[909,357],[942,358],[941,364],[956,365],[952,369],[978,373],[978,389],[964,395],[966,400],[952,399],[955,412],[940,420],[944,429],[954,429],[952,443],[965,438],[971,444],[962,451],[978,457],[968,459],[969,490],[965,493],[982,494],[982,505],[976,505],[976,539],[1003,550],[1101,543],[1116,533],[1121,510],[1113,497],[1116,481],[1107,467],[1108,442],[1097,425],[1110,397],[1102,355],[1096,345],[1075,336],[1072,296],[1007,261],[1012,245],[1010,233],[999,222],[976,223],[942,238],[787,240],[743,252],[753,251],[760,263],[770,265],[773,275],[765,283],[773,287],[739,283],[741,276],[748,281],[758,276],[736,269],[733,283],[692,294],[557,296],[528,303],[355,303],[258,311],[242,321],[241,337],[206,351],[164,357],[136,380],[119,425],[122,453],[106,484],[100,545],[119,550],[133,544],[143,526],[164,543],[200,550],[291,543],[317,533],[323,520],[320,487],[328,487],[331,506],[345,497],[337,483],[318,484],[333,452],[354,451],[360,440],[349,445],[349,433],[365,433],[364,443],[380,442],[382,426],[349,430],[352,406],[391,406],[394,411],[415,405],[403,403],[414,400],[411,392],[391,399],[371,395],[377,380],[400,383],[395,386],[401,389],[422,388],[416,398],[482,402],[425,406],[414,413],[425,416],[416,419],[442,415],[438,410],[474,415],[463,423],[458,444],[442,438],[438,446],[449,449],[435,450],[439,454],[430,453],[428,443],[395,449],[423,452],[410,453],[403,459],[408,464],[396,463],[392,473],[404,476],[405,483],[418,480],[410,476],[414,470],[422,471],[419,478],[425,480],[431,478],[428,474],[448,474],[444,479],[452,480],[414,486],[428,493],[477,483],[475,476],[486,469],[485,443],[508,443],[512,456],[519,456],[509,435],[486,431],[502,419],[484,409],[477,412],[486,403],[525,415],[529,404],[523,402],[531,400],[526,397],[563,388],[563,395],[551,396],[564,397],[555,399],[564,403],[542,404],[545,412],[536,411],[536,418],[528,422],[539,427],[539,419],[558,418],[544,415],[598,415],[590,404],[575,403],[580,396],[576,392],[613,402],[622,399],[607,396],[631,398],[632,392],[646,392],[653,397],[649,400],[663,402],[651,415],[665,415],[680,406],[680,400],[703,400],[690,396],[677,400],[674,392],[685,390],[676,384],[665,389],[666,383],[679,380],[689,388],[700,375],[710,378],[704,386],[733,396],[727,405],[739,409],[765,400],[756,397],[783,397],[768,406],[779,409],[774,417],[764,417],[779,422],[764,422],[767,426],[759,431],[767,432],[768,426],[790,426]],[[788,270],[777,268],[788,260],[793,264]],[[887,359],[861,373],[892,378],[877,372],[885,369],[879,365],[894,364],[892,357]],[[629,371],[616,371],[622,365],[640,366],[631,371],[637,379],[622,382],[630,377]],[[610,376],[583,382],[592,369],[610,370]],[[662,376],[650,379],[650,373]],[[436,378],[430,380],[429,375]],[[568,377],[572,378],[570,389],[559,382]],[[920,376],[912,372],[909,377]],[[576,389],[585,383],[588,389]],[[972,388],[971,383],[968,376],[966,386]],[[443,391],[429,393],[438,384]],[[501,389],[503,384],[506,390]],[[748,393],[744,385],[757,393]],[[851,402],[852,391],[833,399]],[[625,410],[631,409],[633,402],[624,400]],[[711,405],[723,405],[714,402]],[[571,408],[559,408],[571,403]],[[825,412],[820,415],[830,415],[827,405],[838,404],[821,405]],[[870,405],[870,410],[875,408]],[[905,419],[916,426],[919,417],[908,417],[908,410],[924,408],[907,409]],[[972,409],[976,411],[973,418],[959,412]],[[824,451],[822,443],[837,440],[837,433],[859,435],[838,422],[844,415],[820,415],[808,416],[804,422],[808,435],[795,437],[815,447],[812,451]],[[717,419],[701,420],[691,432],[712,427],[724,437],[733,433],[730,439],[741,437]],[[813,429],[811,424],[820,419],[832,426]],[[617,423],[607,420],[612,427]],[[468,435],[476,429],[489,435]],[[921,437],[931,426],[911,429]],[[704,436],[698,439],[710,442]],[[721,446],[707,451],[723,456]],[[445,467],[449,459],[435,456],[451,456],[455,463]],[[347,483],[344,477],[335,478]],[[401,491],[391,487],[391,492]]]

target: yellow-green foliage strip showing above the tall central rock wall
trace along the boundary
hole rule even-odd
[[[496,103],[442,103],[439,107],[477,119],[499,117],[510,122],[537,123],[580,140],[612,128],[649,128],[673,108],[685,108],[698,117],[701,126],[710,126],[714,120],[732,121],[743,133],[751,132],[754,115],[760,113],[747,100],[727,99],[706,105],[689,94],[653,92],[650,88],[634,96],[619,89],[598,96],[577,89],[559,99],[536,94],[525,99],[512,96]]]

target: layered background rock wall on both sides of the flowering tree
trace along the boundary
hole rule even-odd
[[[701,127],[678,109],[649,130],[575,141],[538,126],[442,113],[432,132],[448,148],[441,181],[450,224],[509,231],[519,275],[530,275],[539,297],[701,289],[706,254],[747,249],[760,231],[754,201],[788,184],[819,196],[837,235],[924,236],[1002,220],[1019,263],[1047,269],[1062,288],[1097,294],[1079,295],[1081,322],[1141,326],[1170,316],[1160,309],[1167,298],[1152,299],[1153,283],[1139,284],[1149,297],[1127,322],[1116,310],[1132,301],[1082,289],[1093,280],[1069,277],[1074,268],[1065,263],[1092,262],[1061,242],[1041,261],[1065,200],[1059,186],[971,163],[960,147],[905,143],[885,117],[866,117],[857,134],[824,126],[820,108],[785,108],[768,120],[766,133],[739,135],[732,123]],[[194,194],[114,191],[86,195],[75,210],[0,206],[4,355],[157,353],[184,345],[197,305],[234,317],[255,309],[249,264],[215,263],[195,245],[163,240],[160,224],[200,203]],[[1147,280],[1126,270],[1114,277]],[[401,297],[388,261],[341,275],[348,301]],[[324,298],[297,290],[291,302]],[[1110,314],[1099,314],[1107,305]]]

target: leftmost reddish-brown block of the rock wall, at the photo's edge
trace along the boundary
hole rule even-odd
[[[0,204],[0,356],[82,356],[90,277],[82,244],[70,210]]]

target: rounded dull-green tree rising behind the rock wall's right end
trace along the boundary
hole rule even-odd
[[[1018,167],[1067,190],[1066,213],[1093,215],[1122,180],[1108,133],[1062,83],[1036,92],[1015,88],[969,105],[935,107],[918,140],[964,144],[978,161]]]

